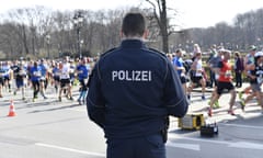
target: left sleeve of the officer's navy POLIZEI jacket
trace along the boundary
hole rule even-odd
[[[90,120],[103,128],[105,123],[105,101],[101,91],[98,65],[92,70],[89,79],[87,110]]]

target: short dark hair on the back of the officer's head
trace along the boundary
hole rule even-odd
[[[146,30],[146,20],[141,13],[130,12],[123,19],[122,31],[125,36],[142,36]]]

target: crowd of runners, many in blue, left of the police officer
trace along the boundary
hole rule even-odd
[[[72,86],[79,84],[79,104],[83,104],[87,95],[87,82],[91,71],[91,59],[72,59],[68,56],[57,60],[9,60],[0,63],[0,98],[4,92],[12,92],[14,95],[21,91],[22,99],[25,100],[25,88],[33,90],[32,101],[39,95],[48,99],[46,89],[52,87],[57,93],[59,101],[65,95],[69,100],[72,98]],[[5,91],[4,91],[5,89]]]

